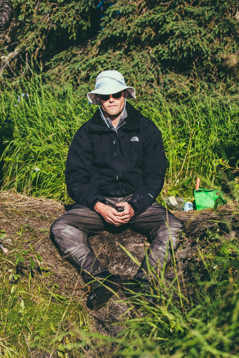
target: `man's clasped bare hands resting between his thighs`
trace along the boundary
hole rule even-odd
[[[118,212],[109,205],[97,202],[95,204],[95,211],[99,213],[106,222],[112,225],[121,225],[126,224],[130,221],[132,216],[134,216],[134,211],[128,202],[117,203],[116,206],[124,207],[124,210]]]

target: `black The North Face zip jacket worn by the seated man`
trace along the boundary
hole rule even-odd
[[[105,197],[125,197],[135,216],[157,198],[167,168],[162,135],[148,118],[126,103],[127,117],[118,131],[108,128],[99,109],[76,132],[66,161],[67,192],[93,209]]]

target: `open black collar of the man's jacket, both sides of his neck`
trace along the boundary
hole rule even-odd
[[[127,117],[125,118],[125,126],[134,126],[136,128],[140,127],[140,116],[142,117],[141,113],[137,111],[130,103],[126,102],[126,111]],[[99,108],[94,113],[93,117],[91,118],[90,129],[96,129],[96,127],[101,128],[108,128],[105,122],[102,120]]]

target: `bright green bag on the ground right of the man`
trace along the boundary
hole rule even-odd
[[[196,210],[202,210],[214,207],[215,200],[221,197],[221,204],[223,200],[223,192],[214,189],[197,189],[194,190]]]

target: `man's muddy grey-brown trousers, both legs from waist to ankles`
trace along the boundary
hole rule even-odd
[[[129,200],[131,195],[125,198],[105,198],[107,205],[115,207],[116,203]],[[170,262],[170,250],[178,248],[180,232],[184,231],[184,224],[171,212],[166,210],[158,202],[154,202],[145,212],[132,218],[128,223],[119,227],[107,223],[98,213],[82,205],[75,204],[71,210],[58,218],[51,226],[51,233],[59,247],[63,257],[69,257],[71,262],[82,273],[85,282],[91,275],[99,274],[107,270],[95,257],[89,245],[88,238],[99,234],[101,231],[122,232],[127,228],[132,229],[147,237],[150,247],[148,248],[148,263],[153,271],[148,270],[147,260],[144,258],[141,267],[134,276],[153,278],[157,281],[163,262],[166,266]],[[169,247],[168,247],[169,246]],[[166,254],[167,253],[167,254]],[[150,274],[149,274],[149,271]],[[91,273],[91,275],[89,275]]]

